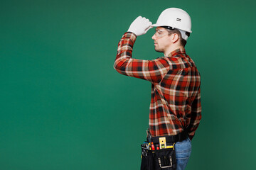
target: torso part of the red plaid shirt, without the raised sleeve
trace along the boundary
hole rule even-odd
[[[169,70],[159,83],[152,84],[149,114],[151,134],[176,135],[186,129],[192,139],[198,127],[196,122],[201,119],[201,102],[198,101],[201,77],[198,69],[184,49],[159,59],[169,63]]]

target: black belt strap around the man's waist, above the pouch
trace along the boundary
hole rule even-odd
[[[186,132],[186,130],[184,130],[183,132],[180,132],[177,135],[173,135],[173,136],[152,137],[151,141],[154,142],[154,144],[159,143],[159,137],[166,137],[166,143],[181,142],[183,140],[186,140],[186,138],[188,138],[188,132]]]

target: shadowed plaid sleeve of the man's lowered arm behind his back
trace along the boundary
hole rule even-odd
[[[198,89],[198,94],[194,99],[192,106],[191,106],[191,123],[188,125],[188,137],[192,140],[193,136],[195,135],[196,129],[200,123],[202,118],[201,115],[201,89]]]

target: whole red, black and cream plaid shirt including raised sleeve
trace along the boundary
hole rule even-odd
[[[134,33],[124,33],[118,43],[114,69],[151,82],[151,135],[176,135],[186,129],[192,139],[201,120],[201,80],[195,63],[183,48],[156,60],[133,59],[135,40]]]

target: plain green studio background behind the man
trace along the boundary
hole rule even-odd
[[[151,84],[113,69],[142,15],[183,8],[203,118],[187,169],[256,169],[255,1],[23,0],[0,4],[0,169],[139,169]],[[154,30],[133,57],[152,60]]]

